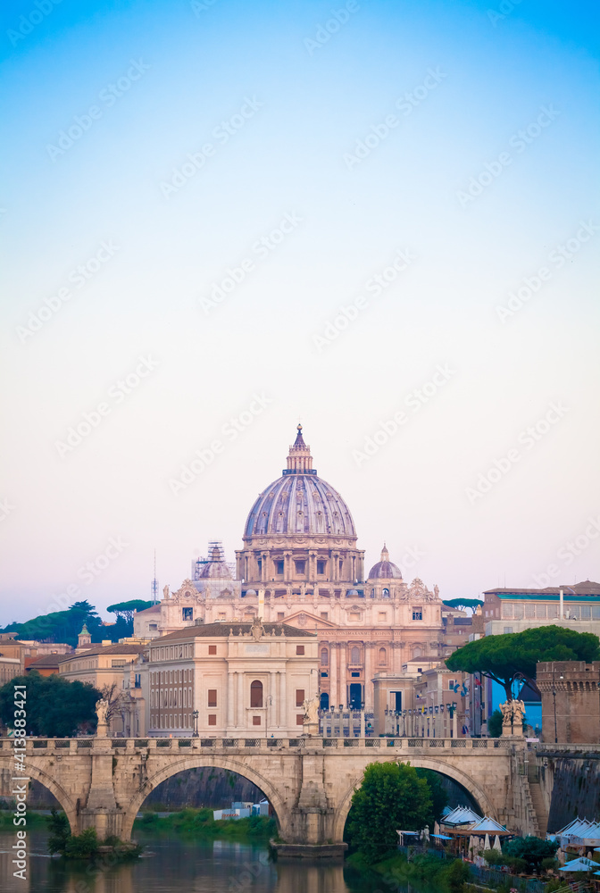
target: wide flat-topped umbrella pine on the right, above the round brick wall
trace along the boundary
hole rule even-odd
[[[506,700],[512,701],[514,680],[536,685],[536,664],[540,661],[600,660],[600,640],[592,632],[575,632],[561,626],[540,626],[523,632],[486,636],[468,642],[446,658],[448,670],[480,672],[503,686]]]

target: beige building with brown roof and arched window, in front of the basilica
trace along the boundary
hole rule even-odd
[[[288,738],[319,685],[317,638],[285,623],[198,622],[148,646],[148,734]]]

